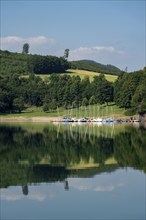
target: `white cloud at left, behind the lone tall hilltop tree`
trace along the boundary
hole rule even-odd
[[[7,36],[0,38],[0,45],[2,50],[19,51],[22,50],[24,43],[30,45],[30,49],[38,49],[42,46],[51,47],[56,41],[53,38],[48,38],[46,36],[35,36],[22,38],[19,36]]]

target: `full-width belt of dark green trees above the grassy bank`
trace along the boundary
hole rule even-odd
[[[44,111],[57,107],[104,104],[114,101],[117,106],[130,110],[130,114],[146,112],[146,72],[124,73],[115,83],[104,75],[83,80],[79,76],[51,74],[42,80],[31,74],[29,78],[0,77],[0,112],[15,112],[28,106],[42,106]]]

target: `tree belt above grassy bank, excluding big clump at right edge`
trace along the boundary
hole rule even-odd
[[[113,101],[113,84],[103,75],[92,82],[89,77],[52,74],[45,80],[34,74],[29,78],[17,75],[0,77],[0,112],[15,112],[25,106],[43,106],[44,111],[57,107],[71,108],[81,105]]]

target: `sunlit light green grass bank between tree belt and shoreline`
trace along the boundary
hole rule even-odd
[[[81,106],[80,108],[68,109],[58,108],[57,110],[45,113],[42,108],[31,107],[26,109],[22,113],[4,114],[3,117],[124,117],[124,109],[117,107],[116,105],[91,105],[87,107]]]

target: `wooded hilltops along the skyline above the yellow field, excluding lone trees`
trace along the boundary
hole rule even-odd
[[[87,70],[95,73],[119,75],[122,71],[113,65],[103,65],[92,60],[70,61],[62,57],[13,53],[0,50],[1,75],[65,73],[67,69]],[[55,69],[51,69],[53,68]],[[41,68],[40,68],[41,67]],[[48,69],[46,69],[46,67]]]

